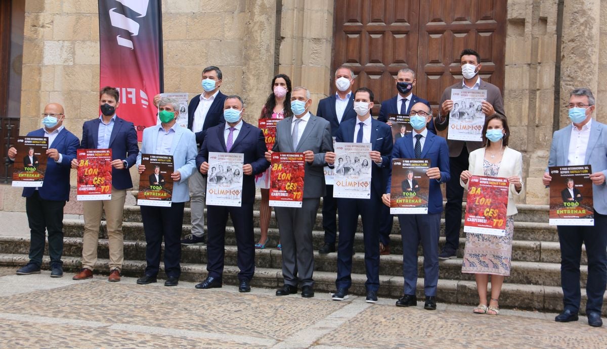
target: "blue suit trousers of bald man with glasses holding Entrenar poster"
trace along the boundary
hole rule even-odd
[[[424,248],[424,294],[436,296],[441,214],[399,214],[398,222],[401,224],[404,294],[415,294],[418,278],[417,251],[421,242]]]

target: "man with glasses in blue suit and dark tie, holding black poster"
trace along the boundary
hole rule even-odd
[[[416,103],[409,113],[413,132],[399,138],[394,144],[392,159],[430,159],[426,175],[430,178],[428,213],[399,214],[402,236],[402,276],[404,296],[396,301],[397,307],[417,305],[415,296],[418,277],[418,245],[424,248],[424,309],[436,310],[436,285],[438,284],[438,235],[443,212],[441,183],[449,182],[449,148],[447,141],[429,132],[427,123],[432,119],[432,109],[425,103]],[[384,204],[390,206],[392,171],[388,178]]]

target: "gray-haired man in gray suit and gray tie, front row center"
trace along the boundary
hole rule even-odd
[[[320,197],[325,195],[325,153],[333,151],[333,140],[329,122],[308,111],[311,104],[307,88],[293,88],[291,110],[294,116],[278,122],[274,147],[265,153],[268,161],[273,151],[304,153],[306,161],[302,207],[274,208],[282,244],[282,276],[285,279],[276,296],[297,293],[300,282],[302,297],[314,297],[312,228]]]

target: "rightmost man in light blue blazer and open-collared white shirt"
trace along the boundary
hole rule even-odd
[[[588,88],[576,88],[569,96],[571,124],[554,132],[548,166],[591,165],[592,205],[594,225],[558,225],[558,242],[561,246],[561,287],[563,312],[555,321],[577,321],[580,310],[580,258],[582,244],[588,256],[586,281],[586,316],[588,325],[600,327],[603,295],[607,287],[607,125],[592,119],[595,110],[594,95]],[[572,144],[573,143],[573,144]],[[578,156],[585,154],[585,156]],[[544,173],[544,185],[552,177]]]

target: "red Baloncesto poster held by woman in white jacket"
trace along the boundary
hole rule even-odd
[[[472,176],[468,180],[464,232],[505,236],[509,187],[507,178]]]

